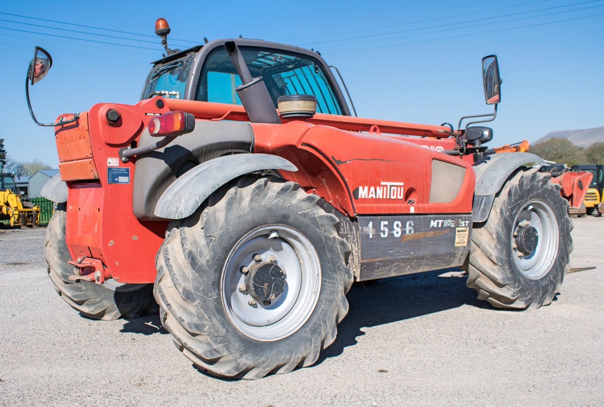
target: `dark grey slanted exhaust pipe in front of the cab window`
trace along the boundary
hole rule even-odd
[[[242,84],[236,87],[237,95],[248,113],[249,121],[254,123],[281,124],[281,119],[275,110],[271,96],[262,77],[252,78],[243,55],[234,41],[225,42],[226,52],[231,57]]]

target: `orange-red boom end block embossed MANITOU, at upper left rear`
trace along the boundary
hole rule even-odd
[[[73,115],[62,115],[69,120]],[[92,157],[92,144],[88,128],[88,112],[80,114],[73,124],[58,125],[54,138],[59,153],[59,172],[63,181],[97,180],[98,171]]]

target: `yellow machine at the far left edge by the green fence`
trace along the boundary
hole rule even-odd
[[[8,220],[10,226],[35,227],[40,219],[40,207],[22,203],[19,195],[13,174],[0,173],[0,220]]]

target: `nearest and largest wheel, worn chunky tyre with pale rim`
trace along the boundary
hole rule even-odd
[[[320,197],[274,177],[239,178],[171,222],[155,298],[176,347],[242,379],[315,363],[348,312],[350,246],[338,222]]]

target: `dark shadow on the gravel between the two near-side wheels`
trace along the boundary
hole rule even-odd
[[[445,276],[439,277],[442,274]],[[321,352],[315,365],[341,355],[345,347],[355,345],[356,338],[365,335],[361,330],[364,327],[408,320],[464,304],[491,308],[486,301],[476,298],[473,289],[466,287],[466,280],[466,273],[458,268],[448,268],[353,286],[346,296],[350,308],[338,325],[338,336]]]

